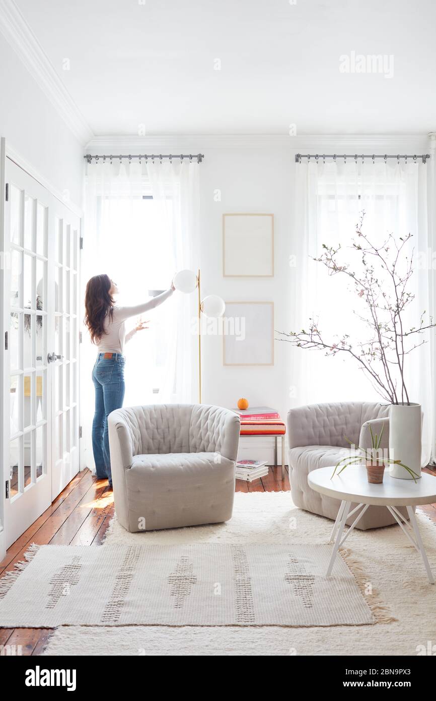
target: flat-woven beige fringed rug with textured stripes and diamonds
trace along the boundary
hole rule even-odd
[[[328,545],[33,546],[0,582],[0,627],[376,622]]]

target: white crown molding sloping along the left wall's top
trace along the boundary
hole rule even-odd
[[[93,137],[92,129],[13,0],[0,0],[0,32],[76,139],[82,144],[89,142]]]

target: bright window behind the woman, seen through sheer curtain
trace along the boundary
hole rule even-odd
[[[139,304],[150,297],[149,291],[166,290],[175,273],[174,254],[153,197],[99,196],[97,200],[99,272],[107,272],[117,283],[118,304]],[[166,216],[171,215],[168,200]],[[128,343],[125,405],[159,401],[173,313],[174,308],[164,304],[142,315],[141,320],[150,324]],[[138,321],[127,320],[126,332]]]

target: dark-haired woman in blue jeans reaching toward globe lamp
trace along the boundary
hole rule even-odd
[[[136,306],[115,306],[113,295],[118,288],[108,275],[95,275],[88,280],[85,293],[85,325],[90,331],[91,341],[98,348],[97,360],[92,370],[95,388],[95,414],[92,422],[92,451],[99,479],[109,480],[112,486],[111,458],[109,454],[108,415],[122,407],[124,399],[124,344],[137,331],[138,325],[127,335],[125,320],[154,309],[171,297],[174,285],[148,302]]]

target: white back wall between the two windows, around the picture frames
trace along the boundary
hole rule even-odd
[[[202,296],[219,294],[225,301],[273,301],[274,327],[290,329],[293,178],[289,149],[205,149],[201,165]],[[220,190],[220,201],[214,192]],[[234,212],[274,214],[274,278],[223,278],[222,215]],[[203,339],[203,401],[236,407],[246,397],[251,407],[269,406],[286,416],[290,386],[289,348],[276,342],[274,366],[224,367],[223,339]],[[244,457],[272,460],[272,438],[245,439],[258,447]],[[265,447],[266,451],[263,450]],[[268,449],[269,448],[269,449]]]

